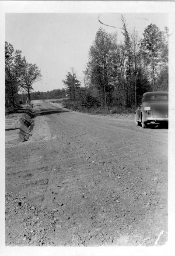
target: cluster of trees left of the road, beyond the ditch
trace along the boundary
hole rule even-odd
[[[19,92],[26,92],[31,99],[33,83],[41,79],[41,71],[36,64],[28,63],[21,51],[14,51],[11,43],[5,42],[5,104],[17,108]]]

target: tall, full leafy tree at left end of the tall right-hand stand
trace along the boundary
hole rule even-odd
[[[99,28],[89,51],[88,73],[91,84],[98,88],[102,107],[108,110],[113,89],[112,78],[112,36]]]

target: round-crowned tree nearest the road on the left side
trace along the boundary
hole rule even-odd
[[[20,86],[28,93],[28,99],[30,101],[30,93],[33,90],[32,85],[41,79],[41,71],[36,64],[28,63],[25,57],[22,58],[21,55],[18,55],[18,57],[16,58],[16,64],[18,64]]]

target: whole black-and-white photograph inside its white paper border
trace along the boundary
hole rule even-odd
[[[168,243],[169,14],[109,9],[4,13],[8,248]]]

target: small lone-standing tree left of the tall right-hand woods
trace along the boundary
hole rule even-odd
[[[76,92],[80,88],[80,81],[77,79],[77,75],[74,72],[73,68],[71,69],[72,73],[68,72],[66,79],[62,80],[63,84],[67,87],[68,92],[70,93],[70,99],[73,100],[73,106],[75,107]]]

